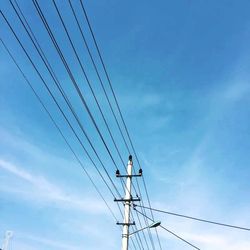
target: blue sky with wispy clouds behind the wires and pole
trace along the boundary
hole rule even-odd
[[[77,99],[32,1],[18,2],[116,181],[115,168]],[[55,9],[51,1],[40,2],[118,162]],[[68,3],[57,2],[115,139],[121,141]],[[152,206],[250,227],[249,1],[85,2],[141,160]],[[78,1],[73,3],[76,7]],[[9,2],[1,1],[0,6],[52,85]],[[2,18],[0,36],[119,217],[112,196]],[[90,41],[89,35],[87,39]],[[121,232],[105,204],[2,46],[0,55],[0,240],[6,230],[12,230],[13,249],[100,249],[100,244],[103,250],[120,248]],[[96,53],[94,56],[97,58]],[[59,101],[64,105],[62,99]],[[122,142],[119,147],[126,161]],[[203,250],[250,248],[248,232],[161,214],[155,217]],[[159,230],[159,235],[163,249],[190,248],[166,231]]]

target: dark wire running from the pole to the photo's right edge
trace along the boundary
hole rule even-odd
[[[134,206],[135,207],[141,207],[140,205],[135,205],[135,204],[134,204]],[[192,217],[192,216],[188,216],[188,215],[183,215],[183,214],[172,213],[172,212],[163,211],[163,210],[160,210],[160,209],[155,209],[155,208],[150,208],[150,207],[144,207],[144,208],[150,209],[152,211],[160,212],[160,213],[165,213],[165,214],[169,214],[169,215],[174,215],[174,216],[178,216],[178,217],[190,219],[190,220],[196,220],[196,221],[206,222],[206,223],[210,223],[210,224],[214,224],[214,225],[218,225],[218,226],[231,227],[231,228],[235,228],[235,229],[250,231],[250,228],[246,228],[246,227],[240,227],[240,226],[225,224],[225,223],[221,223],[221,222],[216,222],[216,221],[211,221],[211,220],[205,220],[205,219],[201,219],[201,218],[196,218],[196,217]]]

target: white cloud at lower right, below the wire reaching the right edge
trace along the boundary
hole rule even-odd
[[[248,232],[239,232],[234,229],[225,230],[216,226],[207,226],[185,220],[162,219],[162,225],[177,234],[189,243],[203,250],[248,250],[250,242]],[[159,228],[159,235],[163,242],[173,242],[176,246],[187,246],[171,233]]]

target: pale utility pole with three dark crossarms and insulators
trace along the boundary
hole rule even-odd
[[[128,250],[129,246],[129,227],[131,225],[135,225],[135,222],[130,222],[130,209],[132,202],[134,201],[140,201],[140,198],[133,198],[131,195],[131,185],[132,185],[132,177],[141,177],[142,176],[142,170],[139,170],[139,174],[132,174],[132,168],[133,168],[133,161],[132,156],[129,156],[128,165],[127,165],[127,174],[121,175],[120,171],[116,171],[116,177],[119,178],[126,178],[126,190],[125,190],[125,198],[124,199],[114,199],[116,202],[123,202],[124,205],[124,221],[123,223],[117,222],[117,225],[122,225],[122,250]]]

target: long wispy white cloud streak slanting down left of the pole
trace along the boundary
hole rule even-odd
[[[25,184],[15,186],[13,182],[11,187],[8,187],[2,183],[0,186],[2,191],[17,193],[30,201],[55,204],[62,208],[77,209],[88,213],[107,212],[107,209],[101,200],[84,198],[72,194],[72,192],[65,191],[62,187],[51,183],[44,176],[35,175],[4,159],[0,159],[0,168],[9,174],[16,176]]]

